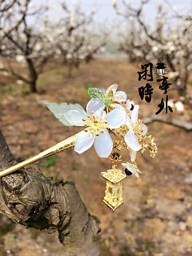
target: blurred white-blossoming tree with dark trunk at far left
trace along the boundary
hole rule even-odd
[[[30,4],[30,0],[18,1],[14,17],[22,13],[22,20],[16,26],[13,25],[13,29],[8,26],[5,31],[2,28],[4,36],[0,46],[2,58],[0,70],[24,80],[30,85],[32,92],[37,91],[37,78],[55,53],[51,31],[43,22],[40,22],[42,25],[37,27],[39,15],[43,15],[47,11],[47,4],[35,6]],[[6,12],[10,12],[10,9]],[[33,16],[33,23],[30,16]],[[7,18],[11,24],[13,16],[9,16],[7,13]],[[22,73],[20,67],[13,65],[14,60],[25,66],[27,74]]]

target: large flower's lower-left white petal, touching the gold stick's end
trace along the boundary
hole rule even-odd
[[[95,134],[81,132],[75,141],[75,152],[81,154],[89,149],[93,145],[94,139]]]

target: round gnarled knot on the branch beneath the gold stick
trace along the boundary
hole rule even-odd
[[[48,205],[45,180],[34,175],[34,168],[37,171],[33,166],[32,172],[15,172],[2,178],[5,204],[21,223],[38,219]]]

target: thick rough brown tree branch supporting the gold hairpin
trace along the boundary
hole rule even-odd
[[[0,131],[0,170],[16,161]],[[99,220],[90,215],[73,182],[46,178],[36,164],[0,178],[0,213],[44,232],[59,232],[72,256],[102,256]]]

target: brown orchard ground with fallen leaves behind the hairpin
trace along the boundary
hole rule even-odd
[[[82,127],[65,127],[46,103],[79,103],[85,108],[89,87],[106,89],[116,83],[140,105],[140,119],[155,114],[163,91],[154,75],[152,102],[139,99],[138,87],[145,81],[138,82],[138,71],[140,65],[126,59],[99,58],[82,64],[68,78],[67,68],[52,62],[38,79],[39,94],[31,94],[27,84],[16,84],[14,78],[1,77],[0,128],[14,157],[24,160],[81,131]],[[168,89],[168,97],[177,98],[176,91]],[[170,115],[192,121],[189,109]],[[124,204],[114,213],[102,203],[106,183],[100,174],[111,162],[99,158],[93,147],[81,155],[71,149],[37,163],[46,176],[75,182],[88,211],[101,220],[104,256],[192,255],[192,133],[158,122],[147,127],[158,146],[156,158],[151,159],[148,150],[144,156],[138,152],[136,161],[143,174],[123,181]],[[122,159],[129,161],[125,150]],[[69,254],[57,233],[27,230],[0,215],[0,255]]]

